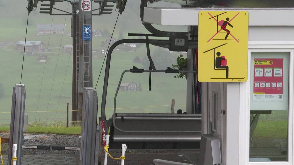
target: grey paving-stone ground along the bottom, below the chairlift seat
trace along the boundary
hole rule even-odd
[[[114,157],[119,157],[120,154],[114,153]],[[4,164],[7,165],[7,156],[3,156]],[[102,156],[102,162],[104,156]],[[163,159],[168,161],[176,161],[188,164],[197,164],[198,152],[183,151],[183,152],[168,152],[168,153],[128,153],[126,152],[126,165],[151,165],[153,159]],[[98,160],[97,160],[98,161]],[[119,161],[120,162],[120,161]],[[79,160],[77,155],[24,155],[21,159],[22,165],[78,165]],[[108,158],[108,165],[119,165],[117,161],[112,161]],[[1,165],[1,163],[0,163]]]

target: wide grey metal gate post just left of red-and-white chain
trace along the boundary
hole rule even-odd
[[[83,91],[80,165],[94,165],[96,147],[98,97],[93,88]]]

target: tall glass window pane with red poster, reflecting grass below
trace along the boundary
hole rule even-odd
[[[251,53],[249,161],[288,161],[289,52]]]

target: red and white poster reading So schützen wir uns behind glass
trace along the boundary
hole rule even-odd
[[[254,58],[253,101],[283,101],[283,58]]]

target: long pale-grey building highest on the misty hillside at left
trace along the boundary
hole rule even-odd
[[[44,34],[63,34],[66,24],[37,24],[37,35]]]

